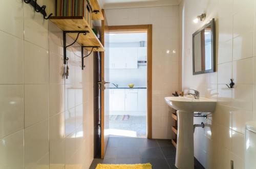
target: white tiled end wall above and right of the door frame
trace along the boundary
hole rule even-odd
[[[172,138],[174,122],[164,97],[180,89],[178,6],[107,9],[105,13],[109,25],[153,25],[153,138]]]

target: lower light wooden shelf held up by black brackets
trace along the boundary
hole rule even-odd
[[[100,40],[94,34],[93,30],[82,16],[52,16],[50,20],[56,24],[62,31],[89,31],[87,35],[80,34],[77,43],[82,46],[99,46],[93,51],[104,51]],[[76,39],[77,33],[68,34],[72,39]],[[87,48],[86,48],[87,49]],[[88,48],[87,50],[91,50]]]

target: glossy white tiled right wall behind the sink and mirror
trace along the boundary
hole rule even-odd
[[[182,87],[199,90],[201,96],[218,101],[207,120],[195,118],[195,123],[207,124],[195,131],[195,156],[205,168],[230,168],[233,160],[234,168],[242,169],[245,123],[256,120],[256,1],[184,0],[179,9]],[[201,13],[206,13],[206,20],[195,24],[193,19]],[[193,76],[191,35],[211,18],[216,19],[217,72]],[[234,89],[225,86],[230,78],[236,83]]]

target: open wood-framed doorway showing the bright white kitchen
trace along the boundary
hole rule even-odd
[[[109,26],[110,135],[152,136],[150,28],[151,25]]]

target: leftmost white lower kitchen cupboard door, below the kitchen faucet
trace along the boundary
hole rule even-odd
[[[113,89],[112,111],[124,111],[124,90]]]

